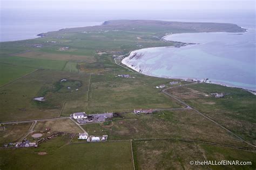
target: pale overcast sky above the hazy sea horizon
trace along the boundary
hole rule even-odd
[[[255,0],[1,0],[1,9],[255,10]]]

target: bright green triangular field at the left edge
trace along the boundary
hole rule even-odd
[[[35,69],[30,67],[9,65],[9,64],[1,64],[0,63],[0,86],[9,83],[12,80],[15,80],[19,77],[28,74]]]

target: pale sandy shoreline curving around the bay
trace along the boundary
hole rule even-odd
[[[248,28],[244,28],[246,29],[245,32],[247,32]],[[198,32],[198,33],[201,33],[201,32]],[[208,33],[208,32],[207,32]],[[224,32],[224,33],[228,33],[228,32]],[[236,33],[236,32],[234,32]],[[181,33],[178,33],[178,34],[181,34]],[[175,35],[175,34],[170,34],[170,35],[166,35],[164,37],[161,38],[161,40],[165,41],[165,42],[176,42],[176,41],[172,41],[172,40],[166,40],[165,38],[166,37],[169,37],[169,36],[172,36],[172,35]],[[185,47],[187,45],[199,45],[200,43],[183,43],[183,42],[179,42],[179,43],[182,43],[183,45],[181,45],[180,47]],[[148,48],[144,48],[144,49],[159,49],[159,48],[165,48],[165,47],[175,47],[175,46],[163,46],[163,47],[148,47]],[[142,50],[142,49],[139,49],[139,50]],[[147,73],[143,73],[142,70],[138,67],[138,66],[133,66],[131,64],[128,64],[126,62],[126,60],[130,60],[130,58],[133,56],[133,57],[136,57],[136,51],[138,50],[134,50],[134,51],[131,51],[130,52],[130,55],[125,57],[124,59],[122,59],[121,63],[126,65],[127,67],[129,67],[130,69],[138,72],[138,73],[141,73],[141,74],[144,74],[146,76],[152,76],[152,77],[158,77],[158,78],[168,78],[168,79],[177,79],[177,80],[185,80],[188,79],[188,78],[192,78],[192,79],[196,79],[196,78],[193,78],[193,77],[169,77],[169,76],[154,76],[152,74],[147,74]],[[132,57],[132,58],[133,58]],[[243,89],[243,90],[246,90],[254,95],[256,95],[256,90],[252,90],[252,89],[248,89],[248,87],[244,87],[244,86],[235,86],[233,84],[228,84],[228,83],[225,83],[225,82],[222,82],[222,81],[212,81],[210,80],[210,82],[205,82],[205,83],[208,83],[208,84],[216,84],[216,85],[221,85],[221,86],[226,86],[226,87],[231,87],[231,88],[238,88],[238,89]]]

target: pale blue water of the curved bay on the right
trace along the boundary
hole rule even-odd
[[[209,78],[213,83],[256,90],[255,29],[241,35],[181,33],[165,39],[199,44],[141,49],[134,52],[142,57],[127,57],[123,63],[151,76]]]

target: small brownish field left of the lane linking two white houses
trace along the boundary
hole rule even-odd
[[[34,131],[45,131],[46,128],[50,128],[51,132],[83,133],[70,119],[38,121]]]

